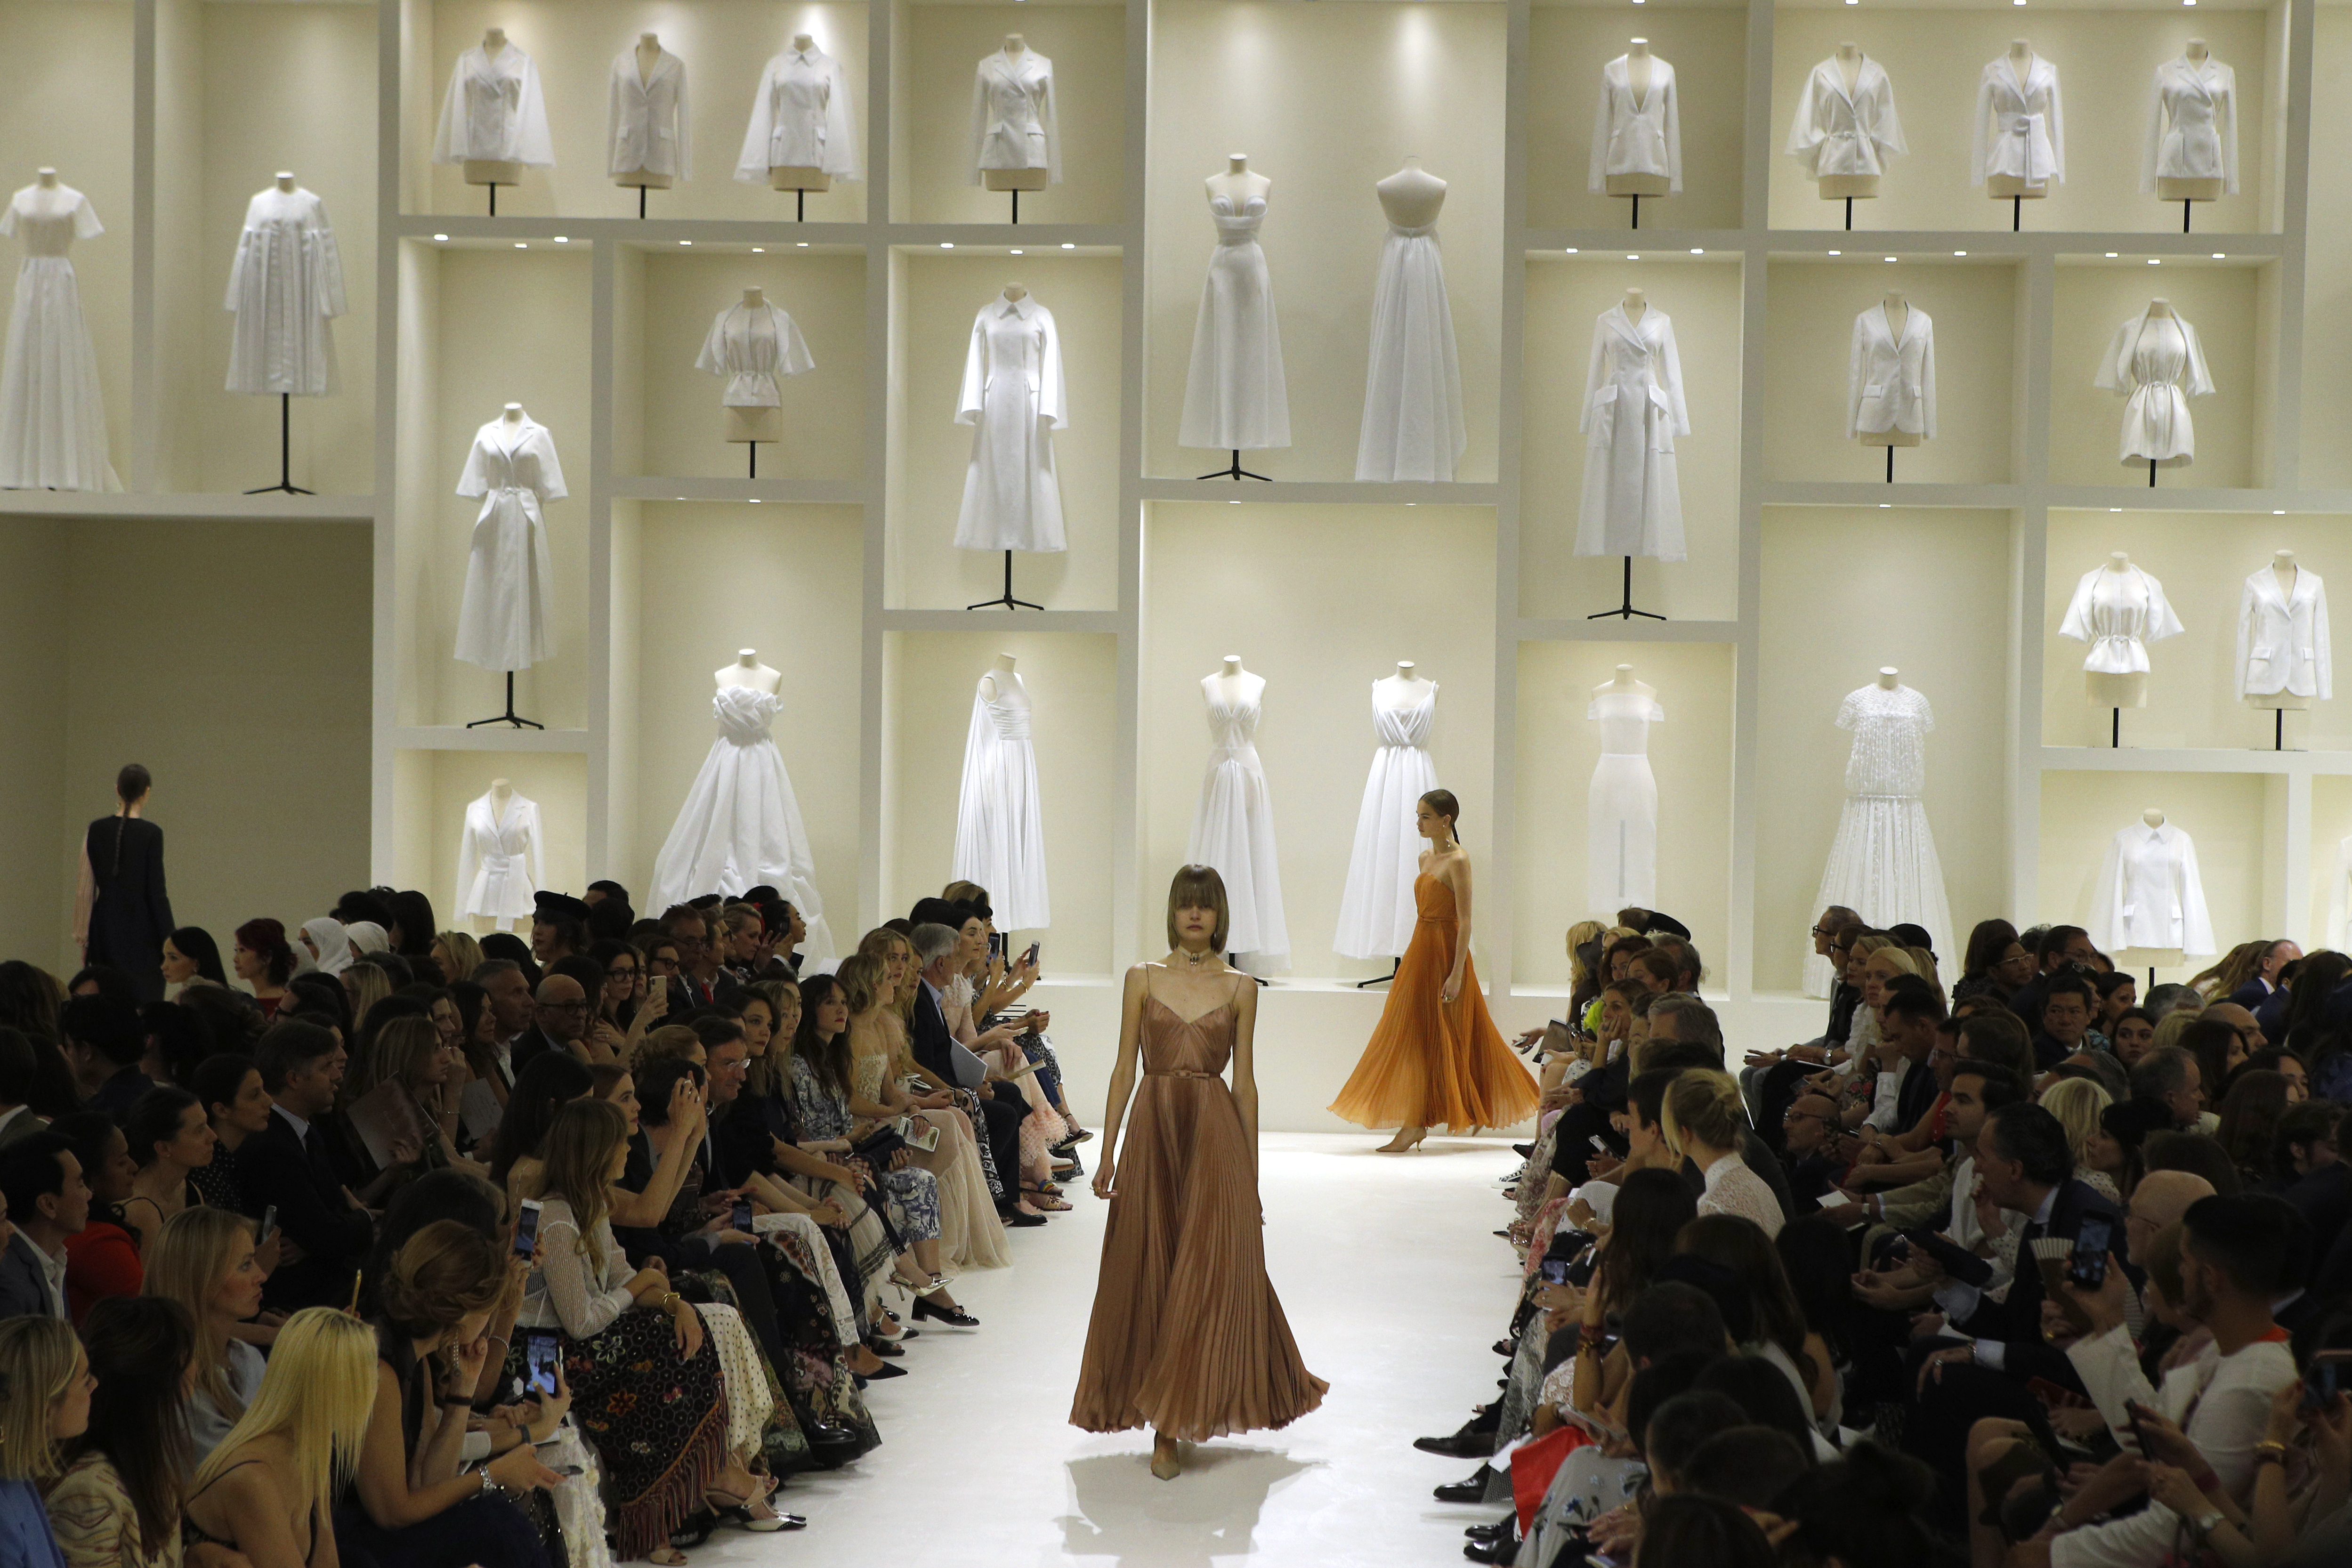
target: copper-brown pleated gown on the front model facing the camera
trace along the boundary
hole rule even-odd
[[[1178,1018],[1145,990],[1141,1053],[1070,1425],[1185,1441],[1287,1427],[1331,1385],[1265,1279],[1254,1161],[1218,1077],[1232,1001]]]

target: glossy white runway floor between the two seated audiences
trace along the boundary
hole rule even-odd
[[[1103,1237],[1103,1206],[1073,1197],[1073,1213],[1014,1232],[1014,1267],[955,1281],[981,1328],[924,1324],[901,1361],[913,1375],[868,1389],[882,1448],[783,1486],[779,1507],[804,1514],[807,1530],[722,1530],[691,1561],[1461,1563],[1463,1526],[1501,1507],[1432,1500],[1475,1462],[1411,1443],[1496,1392],[1489,1345],[1508,1328],[1515,1265],[1489,1232],[1510,1220],[1494,1178],[1515,1161],[1503,1140],[1432,1133],[1402,1157],[1371,1154],[1376,1143],[1263,1140],[1268,1265],[1308,1368],[1331,1385],[1312,1415],[1202,1443],[1176,1481],[1150,1476],[1143,1432],[1070,1427]]]

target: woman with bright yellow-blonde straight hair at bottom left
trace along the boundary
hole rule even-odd
[[[191,1547],[336,1568],[334,1502],[350,1486],[374,1408],[374,1331],[334,1307],[287,1319],[252,1406],[188,1483]]]

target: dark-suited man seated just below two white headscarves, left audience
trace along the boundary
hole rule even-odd
[[[278,1265],[261,1300],[278,1312],[348,1307],[360,1260],[376,1225],[343,1187],[327,1154],[327,1128],[343,1086],[343,1046],[315,1023],[280,1023],[254,1048],[261,1086],[270,1091],[270,1124],[238,1147],[238,1178],[249,1215],[278,1208],[278,1225],[301,1248]],[[292,1251],[292,1248],[289,1248]]]

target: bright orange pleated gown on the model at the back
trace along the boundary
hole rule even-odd
[[[1397,959],[1388,1006],[1331,1110],[1357,1126],[1512,1126],[1536,1114],[1543,1091],[1503,1044],[1477,990],[1477,964],[1463,964],[1463,990],[1442,1001],[1461,922],[1454,889],[1428,872],[1414,877],[1414,940]]]

